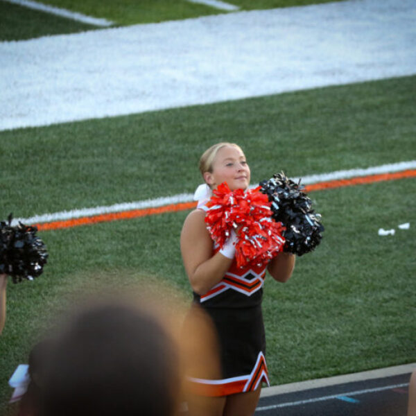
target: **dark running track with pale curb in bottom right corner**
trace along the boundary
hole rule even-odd
[[[256,416],[406,416],[416,363],[266,388]],[[292,391],[293,390],[293,391]]]

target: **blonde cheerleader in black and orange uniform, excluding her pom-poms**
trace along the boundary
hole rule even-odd
[[[189,415],[249,416],[254,414],[261,384],[268,384],[261,313],[266,270],[275,280],[287,281],[295,266],[295,256],[281,252],[268,264],[237,267],[234,255],[239,229],[220,249],[211,239],[205,215],[211,191],[219,184],[226,182],[232,191],[248,189],[250,168],[243,150],[230,143],[211,146],[200,158],[200,172],[205,184],[196,192],[198,207],[184,221],[180,245],[193,290],[189,315],[204,312],[211,318],[219,365],[205,367],[205,371],[201,366],[199,374],[197,370],[188,374]],[[187,336],[197,337],[198,333],[188,331]],[[216,348],[212,348],[214,354]],[[206,352],[200,360],[205,358],[212,361]]]

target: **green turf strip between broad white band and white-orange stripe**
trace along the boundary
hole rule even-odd
[[[225,139],[252,182],[400,162],[415,154],[415,114],[409,77],[0,132],[3,215],[193,192],[203,150]]]

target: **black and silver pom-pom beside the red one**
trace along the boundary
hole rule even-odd
[[[272,218],[286,227],[284,251],[302,256],[314,250],[322,239],[324,227],[300,182],[296,184],[282,172],[260,182],[260,187],[272,202]]]

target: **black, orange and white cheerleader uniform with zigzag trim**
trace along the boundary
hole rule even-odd
[[[198,209],[207,211],[205,204]],[[214,253],[219,248],[214,246]],[[266,337],[261,300],[266,266],[239,268],[234,259],[223,279],[204,295],[193,293],[193,302],[211,318],[220,343],[221,378],[189,377],[194,393],[225,396],[269,385]]]

